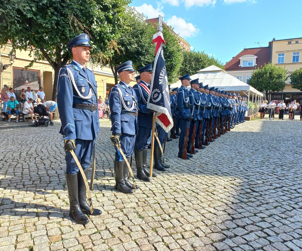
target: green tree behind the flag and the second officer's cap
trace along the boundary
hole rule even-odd
[[[152,24],[132,16],[128,13],[124,19],[122,35],[112,46],[112,51],[107,54],[95,55],[97,61],[103,65],[109,65],[118,83],[116,67],[125,61],[131,60],[134,69],[143,65],[153,63],[155,58],[155,45],[152,45],[153,35],[156,28]],[[164,26],[163,37],[166,44],[163,44],[168,82],[177,80],[180,64],[182,61],[182,47],[172,28]]]

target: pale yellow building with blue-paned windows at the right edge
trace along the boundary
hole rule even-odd
[[[302,67],[302,38],[280,40],[273,38],[271,48],[270,62],[287,69],[288,75],[292,74],[294,70]],[[296,100],[301,103],[302,92],[298,89],[292,88],[290,78],[288,78],[287,85],[283,92],[273,93],[271,95],[271,99],[284,99],[286,103]]]

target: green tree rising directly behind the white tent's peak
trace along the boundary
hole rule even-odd
[[[190,73],[190,75],[196,74],[199,70],[204,69],[211,65],[216,65],[221,69],[224,69],[224,65],[215,59],[213,56],[209,56],[204,51],[185,51],[183,52],[184,60],[180,67],[180,75]]]

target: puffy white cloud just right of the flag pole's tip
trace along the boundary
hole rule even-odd
[[[192,23],[187,23],[183,18],[175,15],[168,19],[166,24],[171,25],[174,28],[174,32],[181,37],[193,37],[199,32]]]

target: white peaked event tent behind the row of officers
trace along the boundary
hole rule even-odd
[[[202,82],[204,85],[209,85],[209,87],[215,86],[225,92],[239,92],[241,96],[245,95],[248,97],[248,104],[250,96],[252,96],[252,101],[255,100],[258,102],[260,102],[260,99],[264,96],[262,92],[257,91],[252,86],[242,82],[215,65],[199,70],[198,73],[190,77],[191,79],[198,78],[199,82]],[[180,86],[181,82],[178,80],[176,83],[171,84],[171,89]]]

